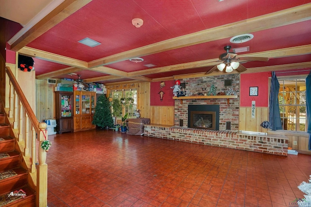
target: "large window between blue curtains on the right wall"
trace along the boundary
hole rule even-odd
[[[278,78],[278,101],[284,130],[306,131],[306,80]]]

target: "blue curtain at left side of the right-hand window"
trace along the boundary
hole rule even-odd
[[[270,105],[269,105],[269,121],[272,130],[283,129],[280,117],[280,108],[278,105],[278,90],[280,84],[276,78],[276,72],[272,72],[271,89],[270,89]]]

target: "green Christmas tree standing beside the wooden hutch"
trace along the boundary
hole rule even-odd
[[[98,97],[92,124],[102,128],[113,127],[110,104],[104,94]]]

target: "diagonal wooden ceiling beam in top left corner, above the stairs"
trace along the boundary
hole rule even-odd
[[[81,9],[91,0],[64,0],[52,12],[43,17],[38,23],[25,31],[11,44],[10,50],[18,51],[28,45],[40,35],[44,34],[59,22]]]

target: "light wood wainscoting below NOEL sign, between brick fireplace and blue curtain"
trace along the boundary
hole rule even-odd
[[[255,119],[252,119],[251,107],[240,107],[239,130],[251,132],[267,132],[260,126],[263,121],[268,121],[268,107],[256,107]]]

